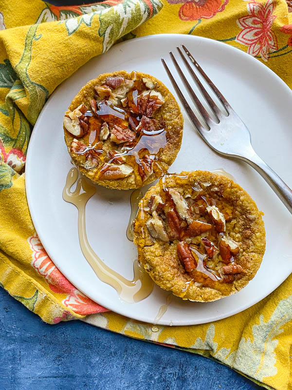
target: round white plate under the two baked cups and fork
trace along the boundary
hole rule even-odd
[[[173,92],[161,56],[184,43],[207,75],[231,103],[252,134],[255,150],[288,185],[292,185],[292,92],[268,67],[246,53],[211,39],[186,35],[155,35],[114,46],[91,59],[64,81],[49,98],[37,119],[26,163],[26,191],[39,238],[59,270],[94,301],[125,316],[153,322],[169,292],[155,286],[145,300],[122,302],[102,283],[83,257],[77,233],[77,209],[62,199],[70,164],[62,120],[79,89],[100,73],[125,69],[149,73]],[[172,68],[173,69],[173,68]],[[175,94],[174,94],[175,95]],[[177,99],[179,101],[179,99]],[[190,99],[189,99],[190,100]],[[183,112],[184,113],[184,112]],[[211,303],[174,297],[159,324],[189,325],[219,320],[254,305],[292,272],[292,218],[270,187],[247,164],[214,153],[184,115],[182,148],[170,172],[223,168],[235,176],[265,213],[267,247],[256,277],[235,295]],[[92,248],[112,269],[133,276],[136,247],[126,238],[131,191],[97,186],[86,208],[87,234]]]

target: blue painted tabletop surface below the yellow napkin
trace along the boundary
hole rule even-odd
[[[0,288],[0,389],[258,390],[200,355],[96,328],[48,325]]]

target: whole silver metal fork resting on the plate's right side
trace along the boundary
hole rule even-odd
[[[164,59],[162,58],[162,63],[167,72],[168,77],[170,78],[174,89],[176,90],[183,107],[188,114],[190,120],[194,124],[195,128],[201,135],[201,137],[205,140],[205,142],[211,146],[216,152],[219,152],[223,156],[236,157],[240,160],[247,162],[256,171],[266,180],[266,182],[270,185],[270,187],[274,190],[275,194],[281,199],[284,205],[292,214],[292,190],[284,183],[284,181],[259,157],[254,151],[251,144],[251,135],[246,127],[246,125],[242,122],[242,120],[238,117],[238,115],[231,108],[230,104],[223,97],[223,95],[219,92],[213,82],[208,78],[205,72],[202,70],[201,66],[194,59],[194,57],[190,54],[189,50],[182,45],[183,50],[185,51],[187,57],[190,59],[189,62],[185,56],[183,55],[181,49],[177,47],[180,56],[183,59],[183,62],[188,69],[192,78],[196,81],[201,94],[209,104],[212,109],[218,123],[212,119],[209,113],[205,110],[203,105],[201,104],[199,98],[193,91],[189,82],[185,78],[182,69],[177,63],[174,55],[170,52],[170,57],[183,80],[183,84],[188,90],[190,96],[194,100],[198,111],[201,116],[205,120],[208,129],[200,122],[200,120],[196,117],[186,99],[183,96],[182,91],[180,90],[178,84],[173,78],[169,68],[167,67]],[[194,72],[196,69],[202,76],[202,78],[206,81],[206,83],[210,86],[211,90],[215,93],[215,95],[219,98],[220,102],[224,106],[227,116],[222,113],[219,107],[216,105],[214,100],[210,97],[208,92],[203,87],[200,79],[197,77]]]

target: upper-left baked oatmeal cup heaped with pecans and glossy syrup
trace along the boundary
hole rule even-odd
[[[173,163],[183,115],[157,78],[118,71],[100,75],[78,92],[63,128],[69,154],[83,175],[128,190],[151,183]]]

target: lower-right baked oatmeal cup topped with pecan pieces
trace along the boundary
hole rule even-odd
[[[164,176],[139,203],[138,261],[183,299],[231,295],[255,276],[265,252],[256,203],[231,179],[206,171]]]

